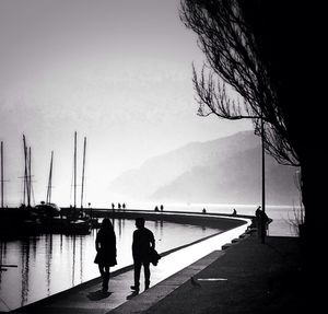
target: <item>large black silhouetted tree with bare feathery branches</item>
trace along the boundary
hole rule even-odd
[[[179,12],[207,57],[199,73],[194,66],[199,114],[250,118],[258,135],[263,119],[266,150],[282,164],[301,166],[307,230],[320,223],[315,207],[323,148],[316,139],[324,115],[314,91],[323,58],[314,34],[321,27],[312,19],[317,10],[300,1],[181,0]],[[231,98],[229,88],[243,101]]]

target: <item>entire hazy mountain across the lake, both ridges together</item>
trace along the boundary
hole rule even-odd
[[[259,203],[261,146],[253,131],[192,142],[124,173],[110,190],[139,199],[183,202]],[[266,155],[266,198],[271,205],[298,205],[296,168]]]

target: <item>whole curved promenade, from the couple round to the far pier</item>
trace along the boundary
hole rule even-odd
[[[138,304],[140,310],[147,310],[153,305],[154,302],[165,298],[186,280],[190,279],[190,276],[194,276],[221,256],[223,254],[221,251],[222,246],[226,243],[231,243],[234,239],[237,239],[246,231],[247,225],[249,224],[249,219],[246,219],[245,217],[223,218],[220,214],[209,213],[199,214],[187,212],[128,210],[106,212],[102,210],[96,212],[94,210],[93,214],[96,214],[97,217],[120,219],[134,219],[138,216],[143,216],[145,220],[163,220],[181,224],[218,228],[220,229],[220,232],[208,236],[207,239],[162,253],[162,259],[159,265],[156,267],[152,266],[151,268],[151,288],[136,298],[133,298],[134,295],[131,294],[129,289],[133,278],[132,265],[129,265],[128,267],[112,274],[112,279],[109,281],[110,292],[107,294],[101,292],[101,278],[96,278],[73,287],[72,289],[17,309],[12,313],[108,313],[114,309],[119,311],[118,306],[120,305],[124,306],[125,304],[133,304],[133,302],[138,303],[138,298],[145,293],[153,295],[153,298],[147,298],[147,307],[144,307],[144,302],[139,302]],[[161,284],[161,282],[164,282],[165,279],[172,276],[175,277],[175,274],[179,274],[179,271],[183,271],[184,274],[184,269],[188,269],[192,263],[196,263],[197,266],[192,268],[191,272],[190,270],[187,270],[187,277],[186,274],[178,275],[174,280],[174,283],[171,282],[168,286]],[[155,294],[151,294],[151,291],[157,291],[159,289],[161,291],[160,294],[157,292]]]

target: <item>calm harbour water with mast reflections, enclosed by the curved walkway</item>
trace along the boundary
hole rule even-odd
[[[115,220],[118,265],[132,264],[133,220]],[[218,233],[218,229],[148,221],[154,232],[156,249],[165,252]],[[0,242],[3,265],[16,265],[0,271],[0,311],[9,311],[98,277],[95,257],[96,230],[89,235],[40,235]]]

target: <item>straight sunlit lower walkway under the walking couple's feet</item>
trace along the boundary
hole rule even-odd
[[[222,245],[238,237],[238,235],[244,233],[246,229],[247,224],[243,224],[162,257],[156,267],[151,267],[151,289],[142,292],[143,287],[141,286],[141,293],[137,296],[133,295],[130,290],[133,278],[132,268],[127,267],[124,270],[116,271],[115,276],[112,277],[109,281],[109,292],[106,294],[101,292],[102,284],[99,278],[97,278],[70,290],[17,309],[12,313],[101,314],[108,313],[124,303],[133,304],[134,302],[140,303],[140,305],[142,304],[140,309],[137,306],[134,309],[136,311],[141,311],[141,309],[147,310],[189,280],[190,276],[196,275],[216,259],[222,254],[220,251]],[[192,263],[195,264],[190,268],[189,265]],[[141,279],[143,277],[141,277]],[[164,279],[166,278],[173,278],[173,281],[168,281],[168,286],[167,281],[164,282]],[[156,284],[159,282],[164,283]],[[142,295],[149,295],[147,296],[147,302],[138,301]],[[134,305],[132,306],[134,307]],[[133,311],[127,313],[133,313]]]

